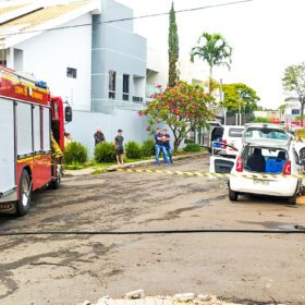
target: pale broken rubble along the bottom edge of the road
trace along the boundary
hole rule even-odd
[[[125,294],[124,298],[113,300],[103,296],[97,303],[85,301],[77,305],[240,305],[221,301],[216,295],[179,293],[174,296],[145,296],[144,290],[135,290]]]

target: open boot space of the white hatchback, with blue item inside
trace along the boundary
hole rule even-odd
[[[247,146],[243,151],[245,170],[260,173],[281,173],[288,161],[288,151],[281,148]]]

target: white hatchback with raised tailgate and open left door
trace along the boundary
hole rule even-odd
[[[218,156],[210,159],[211,172],[231,172],[232,202],[242,194],[257,194],[286,197],[289,204],[295,204],[302,179],[294,175],[303,170],[291,136],[274,124],[247,124],[235,160]]]

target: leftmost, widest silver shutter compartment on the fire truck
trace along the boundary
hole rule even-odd
[[[0,98],[0,193],[15,186],[14,102]]]

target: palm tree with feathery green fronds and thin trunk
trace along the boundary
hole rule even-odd
[[[198,45],[192,48],[191,61],[198,57],[209,65],[209,94],[212,91],[212,69],[215,65],[225,65],[230,70],[232,48],[220,34],[204,33]]]

